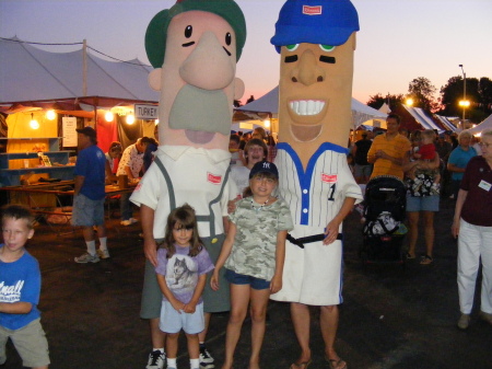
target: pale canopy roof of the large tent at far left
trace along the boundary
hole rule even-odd
[[[84,96],[83,49],[50,53],[19,38],[0,38],[0,103]],[[86,96],[157,101],[152,67],[138,59],[108,61],[86,53]]]

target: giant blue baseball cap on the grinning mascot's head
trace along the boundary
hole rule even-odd
[[[350,0],[288,0],[280,10],[270,43],[339,46],[359,31],[359,15]]]

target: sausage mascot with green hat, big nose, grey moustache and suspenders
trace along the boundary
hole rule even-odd
[[[156,68],[149,83],[161,92],[160,147],[131,200],[141,207],[148,260],[141,309],[141,318],[151,321],[154,345],[148,368],[159,367],[151,364],[161,360],[155,348],[164,345],[159,330],[162,293],[154,267],[168,214],[185,203],[195,208],[199,234],[215,262],[224,239],[226,204],[238,195],[233,181],[227,181],[229,140],[233,101],[244,93],[235,73],[245,41],[244,14],[233,0],[179,0],[157,13],[147,30],[147,55]],[[221,284],[227,286],[225,279]],[[229,288],[213,291],[207,282],[203,310],[206,331],[200,342],[207,313],[230,310]],[[200,354],[200,366],[212,368],[208,353]]]

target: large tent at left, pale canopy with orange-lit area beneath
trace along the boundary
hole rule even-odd
[[[33,136],[23,130],[24,122],[47,109],[55,109],[58,116],[89,119],[98,131],[103,150],[112,140],[119,139],[125,146],[127,138],[153,132],[152,124],[119,124],[134,103],[157,102],[159,93],[148,85],[151,70],[138,59],[103,59],[85,43],[75,51],[51,53],[16,37],[0,38],[0,112],[8,114],[9,137]],[[107,111],[115,113],[113,123],[104,119]],[[55,131],[60,131],[59,119],[40,123],[43,130],[55,125]]]

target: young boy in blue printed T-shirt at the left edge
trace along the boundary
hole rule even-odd
[[[48,342],[37,310],[40,293],[39,265],[25,250],[33,238],[34,217],[20,205],[2,209],[3,242],[0,244],[0,365],[7,360],[5,344],[10,338],[23,366],[47,369]]]

